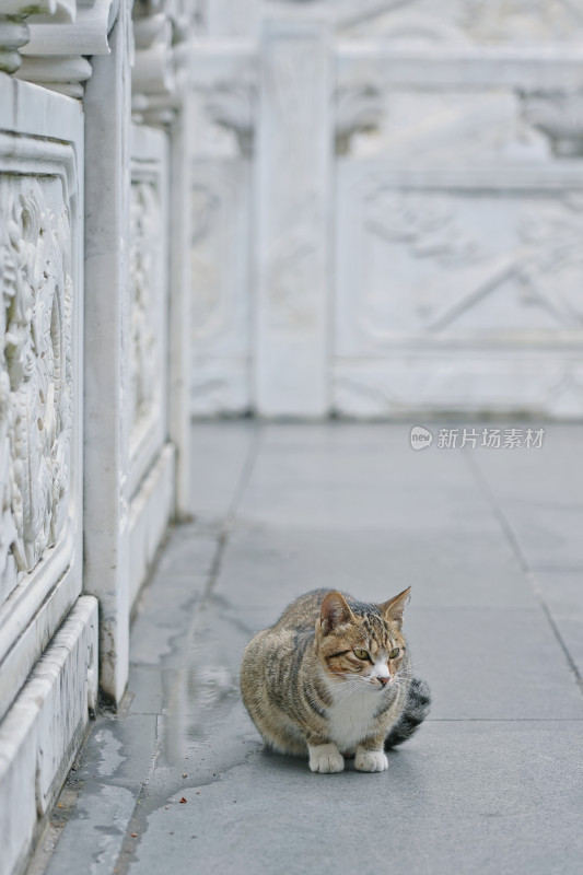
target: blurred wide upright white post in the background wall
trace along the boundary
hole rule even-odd
[[[334,154],[328,25],[267,19],[260,63],[255,407],[268,417],[325,416]]]

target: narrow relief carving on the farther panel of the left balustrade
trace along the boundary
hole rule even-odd
[[[160,199],[150,182],[133,182],[130,206],[130,434],[148,418],[160,397],[156,339],[156,275],[162,228]]]

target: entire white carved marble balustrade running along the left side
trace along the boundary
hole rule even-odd
[[[97,686],[121,701],[131,607],[189,513],[194,7],[31,9],[0,0],[0,875]]]

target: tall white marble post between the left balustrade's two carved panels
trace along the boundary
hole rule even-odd
[[[123,2],[110,55],[93,59],[84,98],[84,588],[100,599],[100,684],[116,703],[126,689],[129,660],[130,26]]]

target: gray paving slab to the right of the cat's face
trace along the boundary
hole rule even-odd
[[[540,609],[411,609],[406,629],[432,716],[583,720],[581,689]]]

